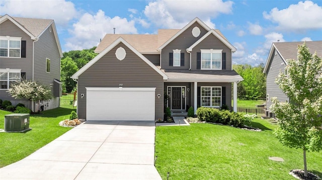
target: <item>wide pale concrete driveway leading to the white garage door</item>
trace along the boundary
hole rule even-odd
[[[0,179],[162,179],[154,133],[153,121],[87,121],[0,168]]]

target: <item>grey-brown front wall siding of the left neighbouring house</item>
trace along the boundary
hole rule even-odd
[[[27,35],[24,31],[18,28],[10,20],[5,21],[0,24],[0,36],[11,36],[11,37],[21,37],[22,41],[26,41],[26,58],[4,58],[0,57],[0,68],[1,69],[21,69],[21,72],[26,72],[26,78],[32,79],[32,46],[33,41],[30,36]],[[0,90],[0,99],[2,100],[11,100],[12,98],[7,92],[7,90]],[[26,104],[26,103],[25,103]],[[26,104],[27,105],[27,104]]]

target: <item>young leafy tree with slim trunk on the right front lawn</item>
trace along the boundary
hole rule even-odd
[[[305,43],[298,46],[297,59],[287,60],[288,75],[281,72],[275,81],[290,102],[274,97],[271,109],[280,124],[274,134],[283,145],[303,150],[307,176],[306,151],[322,150],[322,60]]]

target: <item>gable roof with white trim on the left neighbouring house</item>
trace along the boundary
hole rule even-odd
[[[51,25],[51,28],[53,30],[54,37],[56,40],[56,44],[58,47],[59,55],[60,55],[60,57],[63,57],[54,20],[18,18],[18,17],[11,17],[9,15],[0,16],[0,24],[4,23],[7,20],[14,23],[17,27],[19,27],[22,31],[24,31],[28,36],[30,36],[30,38],[34,41],[37,40],[47,30],[47,28]]]

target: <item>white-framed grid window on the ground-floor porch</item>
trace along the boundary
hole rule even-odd
[[[220,107],[221,87],[201,87],[201,106]]]

